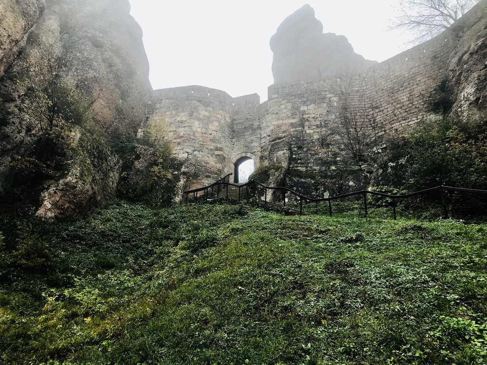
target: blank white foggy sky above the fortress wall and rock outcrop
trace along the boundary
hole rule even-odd
[[[154,89],[201,85],[267,99],[273,84],[269,40],[309,3],[324,33],[344,35],[359,55],[383,61],[406,50],[387,32],[398,0],[130,0],[144,31]]]

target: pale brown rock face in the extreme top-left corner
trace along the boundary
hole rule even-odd
[[[41,17],[45,0],[0,0],[0,76]]]

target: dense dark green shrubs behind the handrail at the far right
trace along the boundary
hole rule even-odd
[[[444,118],[423,124],[390,141],[389,155],[380,166],[378,183],[409,192],[439,185],[487,190],[487,122],[476,126]],[[422,203],[438,201],[438,195]],[[482,214],[487,200],[475,195],[449,197],[455,211]]]

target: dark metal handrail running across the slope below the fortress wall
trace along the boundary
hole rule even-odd
[[[221,184],[224,184],[226,186],[226,196],[228,197],[228,187],[229,186],[235,186],[235,187],[238,187],[239,188],[239,201],[241,200],[240,196],[240,192],[242,188],[244,187],[247,187],[247,186],[261,186],[262,188],[265,189],[265,203],[267,203],[267,189],[269,190],[280,190],[281,192],[284,193],[284,207],[285,207],[285,193],[286,192],[289,192],[291,194],[293,194],[294,196],[298,197],[299,200],[300,200],[300,214],[302,214],[302,202],[303,200],[304,201],[308,201],[308,202],[316,202],[316,203],[319,203],[319,202],[322,202],[322,201],[328,201],[329,203],[329,210],[330,210],[330,216],[332,216],[332,206],[331,206],[331,202],[332,201],[336,201],[336,200],[340,200],[340,199],[344,199],[344,198],[348,198],[348,197],[353,197],[353,196],[357,196],[357,195],[362,195],[363,196],[363,199],[364,199],[364,206],[365,206],[365,216],[368,215],[368,208],[367,208],[367,195],[370,194],[370,195],[375,195],[375,196],[379,196],[379,197],[386,197],[386,198],[391,198],[393,200],[393,216],[394,216],[394,219],[396,219],[396,199],[407,199],[407,198],[412,198],[412,197],[415,197],[415,196],[419,196],[419,195],[423,195],[423,194],[428,194],[428,193],[431,193],[431,192],[434,192],[434,191],[440,191],[441,192],[441,198],[442,198],[442,205],[443,205],[443,210],[444,210],[444,217],[445,218],[448,218],[448,209],[447,209],[447,205],[446,205],[446,201],[445,201],[445,191],[454,191],[454,192],[463,192],[463,193],[474,193],[474,194],[485,194],[487,195],[487,190],[480,190],[480,189],[468,189],[468,188],[461,188],[461,187],[452,187],[452,186],[445,186],[445,185],[440,185],[440,186],[435,186],[435,187],[432,187],[432,188],[429,188],[429,189],[424,189],[424,190],[420,190],[420,191],[416,191],[416,192],[413,192],[413,193],[409,193],[409,194],[398,194],[398,195],[393,195],[393,194],[387,194],[387,193],[380,193],[380,192],[377,192],[377,191],[371,191],[371,190],[360,190],[360,191],[355,191],[353,193],[348,193],[348,194],[342,194],[342,195],[337,195],[337,196],[334,196],[334,197],[328,197],[328,198],[310,198],[310,197],[307,197],[305,195],[302,195],[302,194],[299,194],[297,193],[296,191],[294,190],[291,190],[287,187],[276,187],[276,186],[266,186],[262,183],[259,183],[258,181],[255,181],[255,180],[251,180],[249,181],[248,183],[244,183],[242,185],[237,185],[237,184],[234,184],[234,183],[230,183],[230,182],[225,182],[224,180],[229,177],[230,175],[232,174],[228,174],[226,175],[224,178],[220,179],[219,181],[217,181],[216,183],[213,183],[211,185],[208,185],[208,186],[205,186],[205,187],[202,187],[202,188],[199,188],[199,189],[193,189],[193,190],[188,190],[188,191],[185,191],[184,194],[186,194],[186,201],[188,199],[188,195],[189,194],[196,194],[195,195],[195,198],[198,197],[198,192],[201,192],[201,191],[205,191],[206,194],[207,194],[207,191],[209,188],[213,188],[215,186],[218,187],[218,191],[220,191],[220,185]]]

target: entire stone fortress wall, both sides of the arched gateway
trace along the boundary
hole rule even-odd
[[[440,36],[359,73],[272,85],[262,104],[257,94],[232,98],[201,86],[154,91],[146,121],[168,124],[174,155],[196,166],[191,187],[233,172],[242,156],[256,165],[319,170],[340,150],[332,132],[344,90],[352,110],[375,118],[379,135],[407,131],[434,116],[432,97],[462,48],[463,30],[485,14],[482,1]]]

